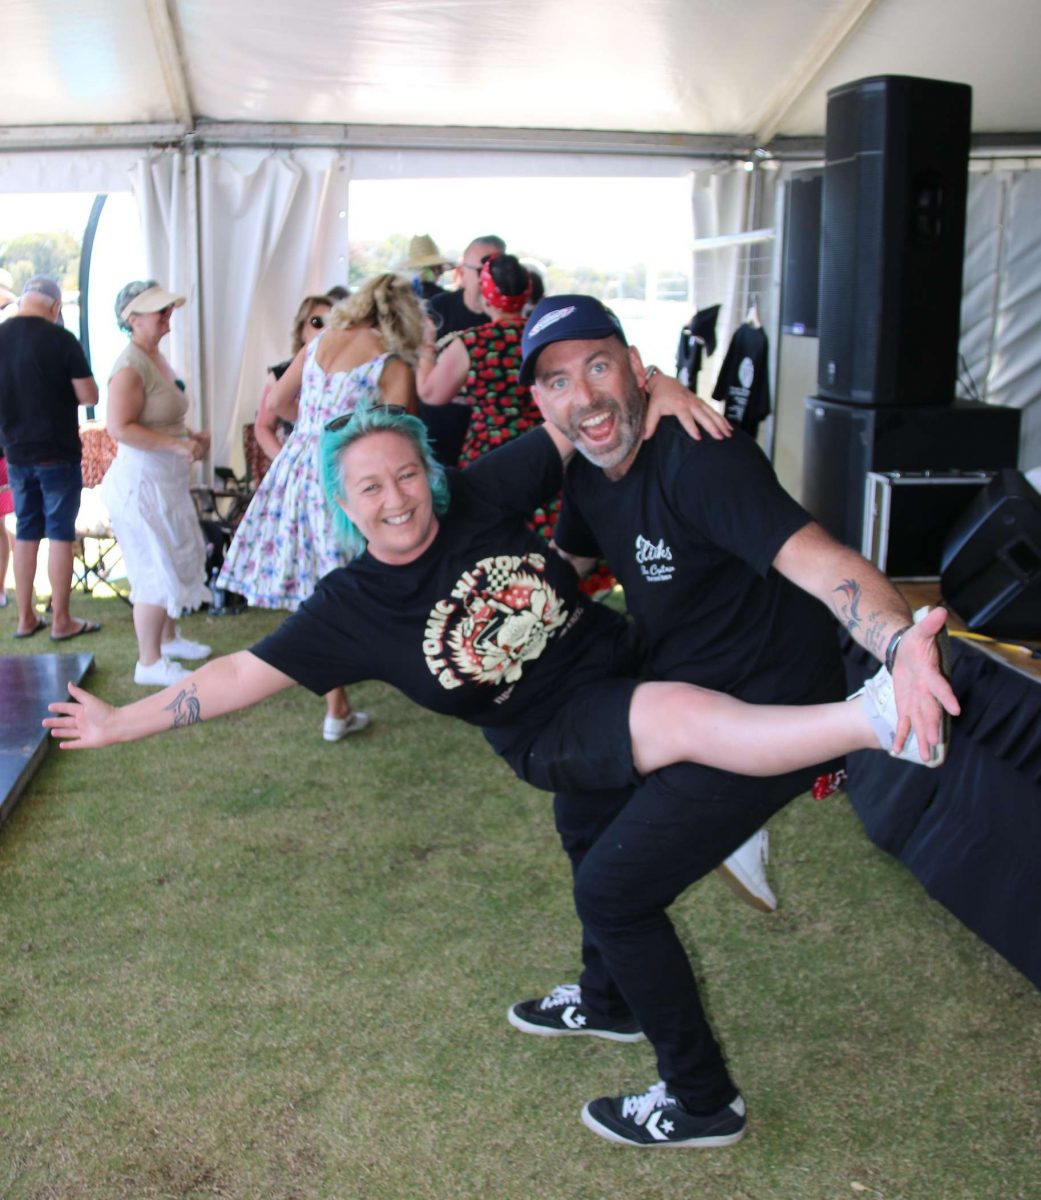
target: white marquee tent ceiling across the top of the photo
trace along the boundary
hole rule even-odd
[[[736,149],[820,137],[828,89],[871,74],[969,83],[974,133],[1022,136],[1037,47],[1036,0],[4,0],[0,149],[263,125]]]

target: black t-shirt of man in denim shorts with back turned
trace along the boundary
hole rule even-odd
[[[88,379],[83,347],[43,317],[0,325],[0,445],[16,467],[79,462],[79,408],[73,379]]]

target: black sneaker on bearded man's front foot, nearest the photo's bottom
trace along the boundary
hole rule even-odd
[[[658,1080],[643,1096],[602,1096],[582,1110],[583,1123],[622,1146],[733,1146],[745,1136],[745,1102],[736,1097],[708,1115],[687,1112]]]

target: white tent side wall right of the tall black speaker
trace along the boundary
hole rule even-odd
[[[1041,170],[969,178],[961,352],[982,400],[1022,410],[1019,467],[1041,464]],[[964,392],[964,386],[961,389]]]

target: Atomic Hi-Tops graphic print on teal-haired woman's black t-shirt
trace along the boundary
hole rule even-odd
[[[482,558],[431,611],[423,656],[443,688],[512,684],[567,617],[546,580],[544,556]]]

